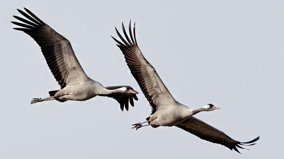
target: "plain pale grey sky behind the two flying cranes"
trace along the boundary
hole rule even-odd
[[[40,47],[13,30],[28,8],[72,44],[88,76],[102,85],[131,85],[139,101],[129,111],[106,97],[47,101],[59,89]],[[0,158],[282,158],[283,1],[2,1]],[[136,21],[139,47],[174,98],[195,116],[246,142],[242,153],[177,127],[131,124],[150,105],[111,36]]]

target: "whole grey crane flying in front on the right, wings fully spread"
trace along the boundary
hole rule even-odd
[[[134,37],[131,30],[131,21],[129,23],[130,38],[125,31],[123,23],[122,29],[126,39],[121,36],[117,29],[116,33],[122,42],[113,37],[112,38],[118,43],[117,46],[122,51],[132,75],[152,106],[152,116],[146,118],[145,122],[133,124],[133,128],[136,128],[137,130],[140,127],[149,125],[154,128],[159,126],[176,126],[198,136],[201,139],[224,145],[237,152],[239,152],[237,147],[242,148],[239,145],[253,143],[259,139],[259,137],[257,137],[249,142],[239,142],[230,138],[219,129],[194,118],[192,115],[198,112],[212,111],[220,108],[215,107],[212,104],[208,104],[199,109],[191,110],[187,106],[177,102],[162,82],[155,68],[144,58],[140,48],[138,47],[135,35],[135,23],[133,29]],[[142,125],[144,123],[148,124]]]

